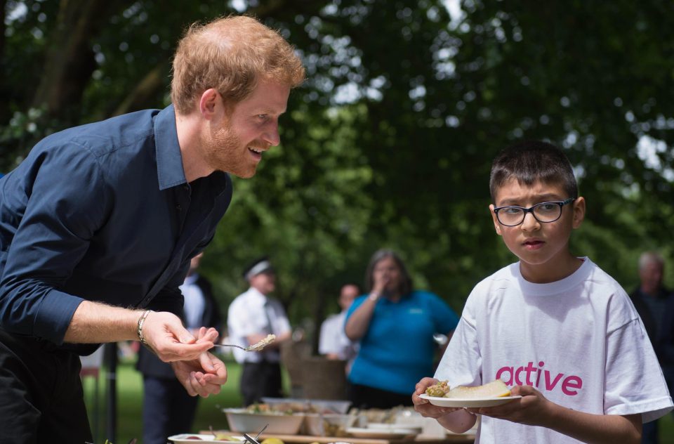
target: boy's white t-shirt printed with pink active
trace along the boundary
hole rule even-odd
[[[527,282],[520,264],[475,286],[435,377],[450,386],[500,378],[593,414],[672,410],[642,322],[621,286],[592,261],[549,284]],[[579,443],[538,426],[482,417],[476,443]]]

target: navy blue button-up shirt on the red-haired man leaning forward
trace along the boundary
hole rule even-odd
[[[225,173],[185,180],[173,106],[44,138],[0,179],[0,328],[62,344],[85,299],[181,313],[231,199]]]

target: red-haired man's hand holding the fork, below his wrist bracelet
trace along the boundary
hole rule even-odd
[[[199,359],[213,347],[218,331],[201,327],[198,336],[199,341],[183,327],[178,316],[166,311],[150,313],[143,323],[143,338],[165,363]]]

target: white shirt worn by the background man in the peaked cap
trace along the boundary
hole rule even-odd
[[[246,340],[251,334],[279,336],[290,332],[290,328],[290,321],[281,303],[276,299],[267,298],[253,287],[239,294],[227,310],[230,344],[247,347],[252,345]],[[262,360],[277,363],[280,354],[278,348],[265,348],[254,353],[234,348],[234,359],[237,363],[259,363]]]

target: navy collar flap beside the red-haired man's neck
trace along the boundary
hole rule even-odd
[[[157,150],[159,190],[187,183],[173,105],[165,107],[154,117],[154,148]]]

